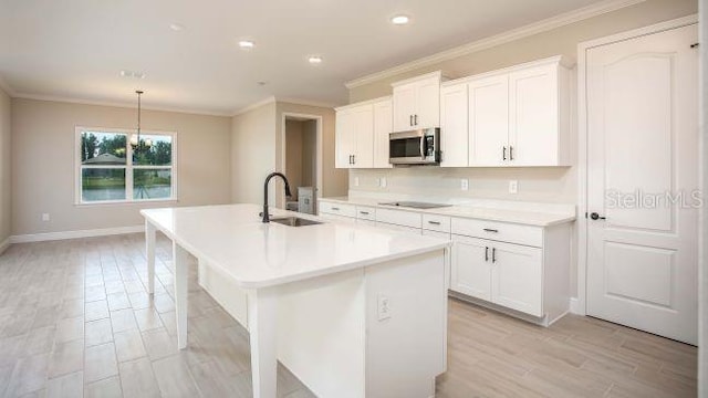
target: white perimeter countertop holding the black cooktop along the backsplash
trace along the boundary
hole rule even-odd
[[[347,197],[339,197],[339,198],[321,198],[321,201],[336,202],[343,205],[354,205],[354,206],[368,206],[375,207],[379,209],[391,209],[391,210],[403,210],[403,211],[414,211],[420,213],[429,213],[429,214],[440,214],[440,216],[449,216],[449,217],[461,217],[461,218],[471,218],[471,219],[480,219],[480,220],[489,220],[489,221],[501,221],[501,222],[511,222],[511,223],[520,223],[528,226],[537,226],[537,227],[550,227],[565,222],[572,222],[575,220],[575,213],[571,211],[542,211],[538,203],[530,205],[529,208],[532,210],[521,210],[524,206],[523,202],[514,203],[513,206],[517,208],[509,208],[509,202],[506,202],[507,206],[502,207],[479,207],[479,206],[461,206],[454,205],[449,207],[441,207],[435,209],[414,209],[408,207],[396,207],[396,206],[384,206],[382,202],[389,201],[398,201],[398,200],[385,200],[381,198],[347,198]],[[409,199],[406,199],[409,200]]]

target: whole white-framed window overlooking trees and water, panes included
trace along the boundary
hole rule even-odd
[[[176,200],[175,133],[76,128],[77,203]]]

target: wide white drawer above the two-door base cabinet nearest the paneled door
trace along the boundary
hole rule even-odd
[[[491,239],[537,248],[543,245],[543,228],[534,226],[452,218],[451,231],[458,235]]]

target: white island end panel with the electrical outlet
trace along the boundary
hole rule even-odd
[[[428,398],[446,369],[444,249],[366,268],[366,396]]]

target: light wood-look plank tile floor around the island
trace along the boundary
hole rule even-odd
[[[12,245],[0,255],[0,397],[250,397],[248,333],[189,281],[175,337],[171,244],[156,294],[142,234]],[[696,347],[569,315],[549,328],[450,300],[438,397],[695,397]],[[279,367],[278,395],[313,397]]]

